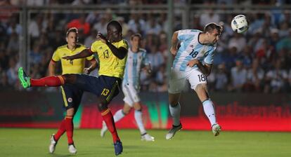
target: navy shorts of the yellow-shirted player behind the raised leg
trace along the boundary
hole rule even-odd
[[[74,108],[75,111],[79,108],[79,104],[82,100],[83,90],[80,90],[72,84],[65,84],[60,87],[63,96],[63,107],[65,109]]]

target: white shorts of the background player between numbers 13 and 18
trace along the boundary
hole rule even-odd
[[[134,107],[135,102],[141,101],[141,99],[138,96],[139,93],[138,88],[134,88],[134,86],[131,86],[130,84],[123,83],[122,91],[124,93],[123,101],[129,104],[130,107]]]

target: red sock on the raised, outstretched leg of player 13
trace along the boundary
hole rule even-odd
[[[65,80],[63,76],[48,76],[39,79],[30,79],[31,86],[49,86],[49,87],[56,87],[62,86],[65,84]]]

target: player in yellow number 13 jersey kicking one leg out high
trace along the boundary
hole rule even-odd
[[[97,34],[97,41],[93,42],[91,48],[82,50],[76,55],[63,57],[65,60],[74,62],[77,58],[89,57],[97,53],[100,60],[99,77],[84,74],[63,74],[61,76],[48,76],[46,78],[32,79],[22,67],[18,69],[18,77],[24,88],[30,86],[63,86],[66,83],[77,86],[77,88],[97,95],[98,109],[101,111],[103,121],[112,134],[115,147],[115,155],[122,153],[122,142],[117,135],[115,123],[108,104],[118,93],[118,86],[122,82],[125,64],[127,61],[127,41],[122,39],[122,26],[119,22],[112,20],[107,25],[107,38],[103,34]]]

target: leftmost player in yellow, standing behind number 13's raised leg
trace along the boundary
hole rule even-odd
[[[58,47],[58,49],[53,53],[53,57],[51,58],[51,62],[48,64],[48,75],[53,76],[56,75],[56,62],[60,61],[62,64],[62,74],[82,74],[83,71],[85,74],[89,74],[93,69],[97,67],[97,62],[93,55],[74,60],[70,62],[69,60],[64,60],[62,57],[64,55],[75,55],[80,51],[86,49],[85,46],[78,44],[78,29],[72,27],[67,30],[66,33],[66,41],[67,44],[64,46]],[[84,68],[86,60],[91,62],[91,66],[89,68]],[[75,148],[74,141],[72,139],[74,132],[74,124],[72,119],[79,108],[79,104],[82,100],[83,90],[80,90],[76,86],[72,86],[71,84],[65,84],[60,87],[63,95],[64,108],[66,109],[65,119],[60,123],[60,128],[58,128],[58,132],[51,136],[51,144],[49,146],[49,152],[53,153],[56,149],[56,144],[58,139],[63,135],[63,133],[67,133],[67,143],[69,144],[70,153],[77,153],[77,149]]]

